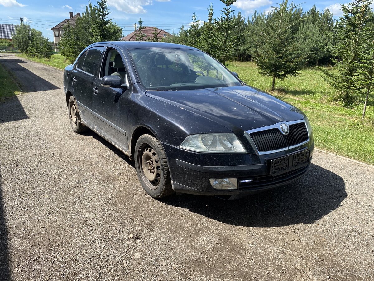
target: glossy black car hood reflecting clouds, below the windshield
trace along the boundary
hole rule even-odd
[[[304,119],[303,112],[289,103],[249,86],[146,94],[220,123],[232,132]]]

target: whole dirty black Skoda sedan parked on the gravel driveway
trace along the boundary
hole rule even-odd
[[[312,160],[303,112],[189,46],[92,44],[65,68],[64,91],[73,130],[134,159],[155,198],[242,197],[295,181]]]

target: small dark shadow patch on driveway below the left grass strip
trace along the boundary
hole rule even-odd
[[[0,100],[0,124],[27,118],[28,115],[19,102],[18,97],[10,97]]]

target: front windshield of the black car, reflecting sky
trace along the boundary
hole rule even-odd
[[[146,90],[172,91],[239,86],[240,82],[214,58],[189,49],[129,49]]]

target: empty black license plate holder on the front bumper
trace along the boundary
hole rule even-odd
[[[276,176],[306,166],[309,163],[309,155],[310,150],[305,150],[271,160],[270,175]]]

